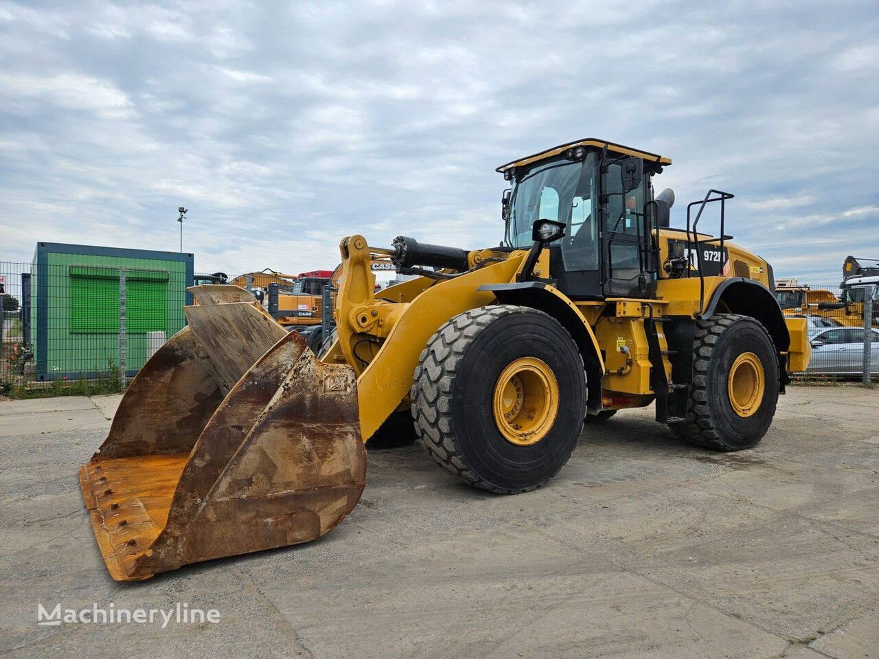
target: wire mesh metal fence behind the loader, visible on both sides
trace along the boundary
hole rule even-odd
[[[0,262],[0,394],[85,385],[120,390],[184,326],[192,279],[166,262],[120,264],[110,257],[74,255],[40,268]],[[336,293],[323,289],[324,337],[333,329]],[[796,286],[776,295],[786,315],[809,324],[812,358],[795,381],[879,382],[875,287]]]

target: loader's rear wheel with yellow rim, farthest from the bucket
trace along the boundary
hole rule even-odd
[[[717,451],[751,448],[772,424],[778,387],[778,358],[766,328],[745,315],[713,315],[696,322],[686,423],[669,427]]]

